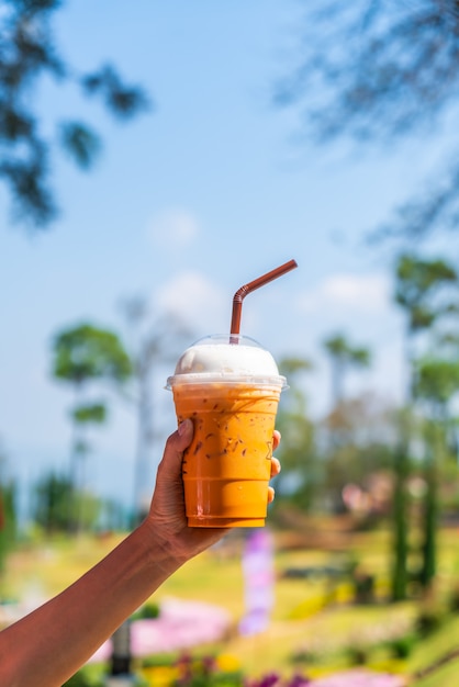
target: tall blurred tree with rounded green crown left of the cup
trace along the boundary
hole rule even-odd
[[[107,417],[107,402],[86,398],[87,387],[94,382],[115,387],[123,385],[132,376],[132,363],[120,338],[113,331],[81,324],[55,336],[52,372],[57,380],[70,384],[75,392],[75,403],[70,412],[74,427],[70,482],[76,493],[78,465],[82,469],[83,458],[89,451],[83,428],[89,424],[102,424]],[[77,511],[72,515],[74,526],[78,528],[82,515]]]

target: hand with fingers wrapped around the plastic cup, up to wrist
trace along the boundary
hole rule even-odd
[[[164,457],[158,466],[156,487],[147,520],[153,526],[156,537],[160,537],[164,545],[173,548],[180,561],[197,555],[204,549],[216,543],[228,532],[227,528],[188,527],[184,515],[183,483],[181,463],[183,451],[193,438],[193,424],[187,419],[168,438]],[[280,433],[275,430],[272,449],[276,451],[280,442]],[[277,458],[271,459],[271,477],[280,472]],[[275,491],[268,487],[268,503],[275,497]]]

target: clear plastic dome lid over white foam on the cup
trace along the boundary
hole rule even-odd
[[[287,386],[271,353],[258,341],[242,335],[216,334],[199,339],[183,351],[166,388],[213,380]]]

